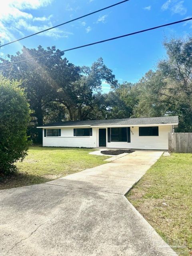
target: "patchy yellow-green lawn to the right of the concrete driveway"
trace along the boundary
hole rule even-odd
[[[126,196],[179,255],[192,255],[192,154],[162,156]]]

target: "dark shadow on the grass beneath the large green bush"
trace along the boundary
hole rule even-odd
[[[0,190],[40,184],[50,180],[52,179],[45,178],[43,176],[27,173],[16,173],[12,176],[0,180]]]

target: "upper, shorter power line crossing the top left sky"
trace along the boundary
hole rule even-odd
[[[40,34],[40,33],[42,33],[42,32],[48,31],[48,30],[53,29],[53,28],[57,28],[57,27],[59,27],[59,26],[68,24],[68,23],[73,22],[73,21],[75,21],[75,20],[79,20],[79,19],[85,18],[85,17],[90,16],[90,15],[92,15],[92,14],[95,14],[95,13],[97,13],[97,12],[101,12],[101,11],[103,11],[103,10],[112,8],[112,7],[114,7],[114,6],[117,6],[117,5],[119,5],[119,4],[123,4],[124,2],[128,2],[128,1],[129,1],[129,0],[124,0],[124,1],[118,2],[118,3],[116,3],[116,4],[112,4],[112,5],[110,5],[110,6],[104,7],[104,8],[102,8],[102,9],[97,10],[97,11],[94,11],[94,12],[90,12],[90,13],[88,13],[88,14],[85,14],[85,15],[80,16],[80,17],[78,17],[78,18],[75,18],[75,19],[73,19],[73,20],[69,20],[69,21],[66,21],[66,22],[64,22],[64,23],[58,24],[58,25],[56,25],[56,26],[53,26],[53,27],[51,27],[51,28],[47,28],[47,29],[41,30],[41,31],[39,31],[39,32],[36,32],[36,33],[31,34],[31,35],[28,35],[28,36],[24,36],[24,37],[22,37],[22,38],[19,38],[19,39],[16,39],[16,40],[12,41],[12,42],[8,42],[8,43],[6,43],[6,44],[2,44],[2,45],[0,46],[0,48],[1,48],[2,46],[8,45],[8,44],[12,44],[12,43],[14,43],[14,42],[18,42],[18,41],[23,40],[23,39],[25,39],[25,38],[28,38],[28,37],[30,37],[30,36],[35,36],[35,35]]]

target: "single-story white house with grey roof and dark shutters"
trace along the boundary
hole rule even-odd
[[[43,146],[168,150],[178,116],[57,122],[39,126]]]

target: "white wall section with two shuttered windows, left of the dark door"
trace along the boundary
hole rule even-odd
[[[84,128],[88,128],[88,127],[84,127]],[[92,128],[92,133],[93,133],[92,136],[86,136],[86,137],[73,136],[73,127],[71,127],[71,128],[61,128],[61,136],[59,137],[44,137],[44,131],[43,131],[43,146],[96,148],[97,147],[97,129]]]

